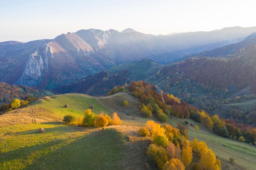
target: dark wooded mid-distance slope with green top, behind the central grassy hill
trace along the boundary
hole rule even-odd
[[[95,73],[80,82],[53,88],[57,93],[84,93],[93,96],[106,95],[115,86],[123,86],[130,80],[141,80],[157,73],[164,65],[149,59],[119,64],[107,71]]]

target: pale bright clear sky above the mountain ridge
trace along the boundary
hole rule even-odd
[[[254,0],[0,0],[0,42],[81,29],[149,34],[256,26]]]

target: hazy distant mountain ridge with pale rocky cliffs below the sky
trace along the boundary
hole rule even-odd
[[[155,36],[133,29],[88,29],[53,40],[0,42],[0,81],[52,89],[145,58],[168,64],[191,53],[240,42],[254,32],[256,27],[231,27]]]

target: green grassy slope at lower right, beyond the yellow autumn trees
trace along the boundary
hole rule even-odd
[[[249,170],[255,169],[255,146],[220,137],[214,133],[209,132],[204,126],[192,119],[180,119],[173,117],[173,119],[169,120],[168,123],[172,126],[176,126],[177,122],[183,123],[185,120],[189,121],[189,125],[187,126],[189,140],[197,138],[198,141],[205,141],[208,147],[211,148],[216,154],[216,157],[220,157],[220,159],[222,160],[222,165],[225,166],[227,169],[237,168],[232,167],[232,164],[227,163],[230,157],[234,157],[234,159],[236,159],[236,166],[243,166]],[[192,123],[194,126],[199,126],[200,130],[198,132],[195,132],[194,127],[191,126],[190,123]],[[223,166],[222,169],[224,169]]]

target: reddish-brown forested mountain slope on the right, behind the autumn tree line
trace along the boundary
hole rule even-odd
[[[247,38],[165,66],[148,81],[211,114],[255,126],[255,54],[256,39]],[[243,101],[246,109],[236,104]]]

